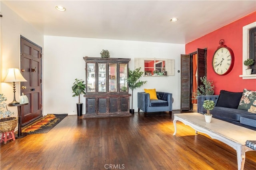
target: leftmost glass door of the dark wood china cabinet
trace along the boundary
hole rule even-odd
[[[87,63],[87,92],[95,92],[95,63]]]

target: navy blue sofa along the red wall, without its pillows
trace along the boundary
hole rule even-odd
[[[206,109],[204,109],[203,104],[205,100],[214,101],[215,105],[217,104],[219,95],[207,95],[207,96],[198,96],[197,97],[197,112],[204,114]],[[238,101],[239,102],[239,101]],[[252,130],[256,130],[256,114],[250,113],[245,110],[228,108],[228,107],[214,107],[211,111],[212,117],[246,127]]]

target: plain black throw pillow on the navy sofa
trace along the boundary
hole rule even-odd
[[[221,90],[216,106],[237,109],[242,94],[243,92],[234,93],[230,91]]]

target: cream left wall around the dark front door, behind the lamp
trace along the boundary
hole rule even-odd
[[[2,79],[5,77],[8,68],[20,68],[20,35],[40,45],[43,49],[44,36],[2,2],[0,2],[0,9],[3,15],[0,18],[0,93],[7,97],[6,103],[10,103],[13,100],[12,83],[2,83]],[[19,99],[19,96],[20,83],[16,83],[16,100]],[[9,109],[17,113],[16,107],[9,107]]]

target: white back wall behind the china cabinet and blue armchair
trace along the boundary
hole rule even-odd
[[[156,88],[157,91],[172,93],[173,110],[180,109],[180,73],[177,71],[180,69],[180,54],[185,53],[184,44],[44,36],[44,115],[76,114],[78,97],[72,97],[72,84],[76,78],[85,80],[83,57],[100,57],[102,49],[108,49],[111,58],[131,58],[129,68],[132,70],[134,58],[175,59],[175,76],[141,78],[148,82],[140,89],[134,90],[133,108],[138,111],[137,92],[144,91],[144,88]],[[82,96],[81,102],[85,103]]]

